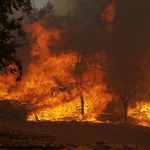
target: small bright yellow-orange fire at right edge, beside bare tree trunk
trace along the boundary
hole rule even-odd
[[[137,102],[135,108],[129,107],[128,116],[134,118],[132,124],[150,126],[150,103]]]

